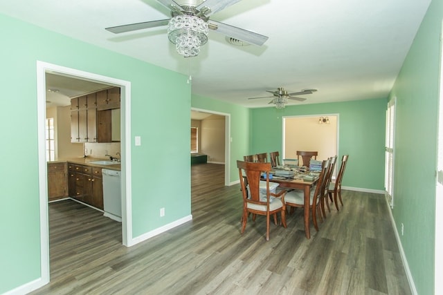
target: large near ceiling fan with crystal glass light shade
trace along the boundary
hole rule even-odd
[[[168,26],[168,38],[175,44],[177,52],[184,57],[199,55],[200,46],[208,41],[208,30],[214,30],[233,39],[262,46],[268,37],[210,20],[209,17],[240,0],[157,0],[171,10],[171,19],[131,23],[106,28],[119,34],[145,28]],[[180,4],[179,4],[180,3]]]

